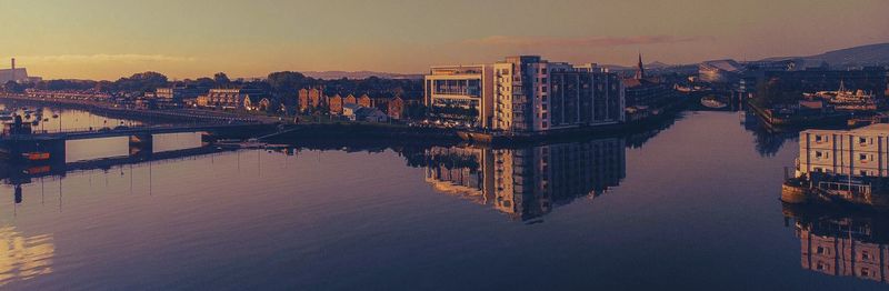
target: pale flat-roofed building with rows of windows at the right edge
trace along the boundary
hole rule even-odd
[[[855,130],[806,130],[799,136],[797,175],[822,172],[889,177],[889,124]]]

